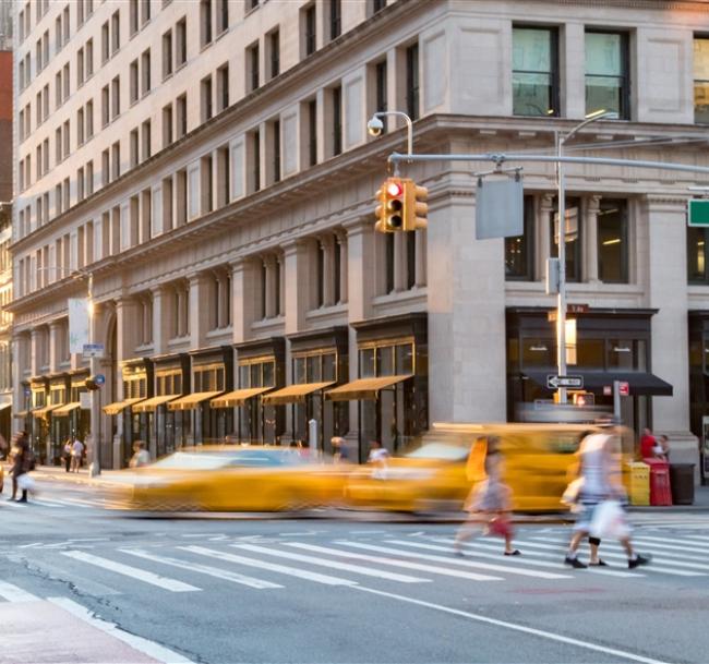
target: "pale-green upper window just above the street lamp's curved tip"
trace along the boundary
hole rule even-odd
[[[627,120],[628,57],[625,33],[586,33],[586,112],[600,110]]]

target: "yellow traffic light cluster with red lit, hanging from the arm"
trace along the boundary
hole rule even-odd
[[[381,233],[419,230],[426,227],[429,190],[409,178],[387,178],[376,192],[374,230]]]

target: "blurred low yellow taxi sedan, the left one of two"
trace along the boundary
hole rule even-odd
[[[266,446],[184,448],[127,471],[113,491],[122,507],[146,511],[277,511],[341,502],[345,467]]]

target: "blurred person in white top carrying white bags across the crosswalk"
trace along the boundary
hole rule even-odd
[[[618,480],[620,469],[613,457],[614,428],[611,422],[602,423],[603,430],[587,435],[581,442],[580,456],[580,487],[578,491],[578,519],[574,526],[574,535],[568,545],[564,564],[575,569],[588,567],[577,557],[578,546],[584,538],[591,534],[591,523],[597,509],[601,508],[606,500],[625,499],[625,490]],[[593,563],[600,563],[598,558],[598,545],[600,539],[589,538],[591,545],[596,547]],[[618,538],[628,557],[628,568],[635,569],[640,565],[650,563],[650,556],[641,556],[633,550],[629,535]]]

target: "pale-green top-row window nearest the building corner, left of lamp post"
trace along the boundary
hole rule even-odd
[[[557,116],[556,28],[513,28],[513,113]]]

